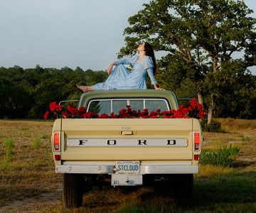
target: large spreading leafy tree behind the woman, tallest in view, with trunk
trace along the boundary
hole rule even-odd
[[[222,78],[219,73],[232,68],[234,76],[245,74],[247,67],[256,64],[256,19],[249,17],[250,13],[243,1],[151,1],[128,19],[130,27],[124,30],[127,45],[119,57],[134,54],[142,40],[149,41],[155,50],[169,53],[159,62],[159,74],[164,75],[161,83],[176,89],[182,82],[201,85],[196,92],[206,97],[210,122]],[[171,78],[167,73],[176,81],[167,82]]]

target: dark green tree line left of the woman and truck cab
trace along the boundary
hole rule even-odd
[[[80,67],[0,67],[0,118],[42,119],[50,102],[79,99],[81,92],[75,84],[96,84],[106,78],[107,72]]]

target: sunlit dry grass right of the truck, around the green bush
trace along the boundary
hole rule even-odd
[[[256,171],[256,120],[218,119],[225,133],[203,133],[203,149],[217,151],[224,146],[240,147],[233,163],[238,170]]]

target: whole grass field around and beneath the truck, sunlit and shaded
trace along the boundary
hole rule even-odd
[[[230,168],[201,165],[192,207],[151,187],[97,188],[82,207],[64,210],[55,174],[51,121],[0,120],[0,212],[256,212],[256,121],[219,119],[225,133],[203,133],[203,149],[239,146]]]

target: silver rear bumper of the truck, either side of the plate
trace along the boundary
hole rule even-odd
[[[55,165],[56,173],[109,174],[116,173],[114,162],[65,162]],[[198,165],[190,162],[178,163],[141,163],[139,174],[196,174]]]

